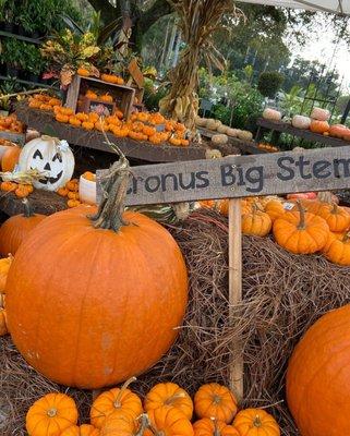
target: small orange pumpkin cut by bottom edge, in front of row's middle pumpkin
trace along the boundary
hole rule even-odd
[[[150,429],[155,436],[193,436],[190,420],[171,405],[164,405],[148,412]]]

